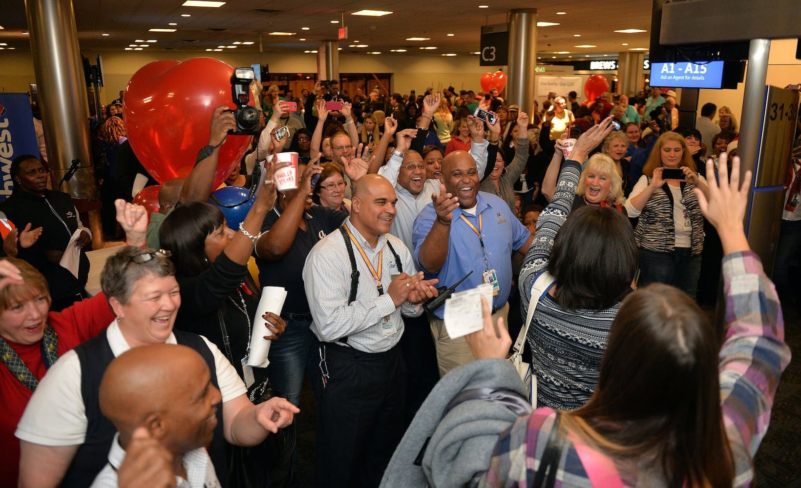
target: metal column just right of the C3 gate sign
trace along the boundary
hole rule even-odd
[[[534,101],[534,66],[537,64],[537,9],[509,12],[509,73],[506,103],[515,103],[531,116]]]

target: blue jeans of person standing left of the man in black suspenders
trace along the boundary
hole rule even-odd
[[[313,368],[317,366],[316,356],[309,354],[309,351],[314,346],[316,354],[319,341],[310,328],[312,321],[286,322],[284,334],[270,346],[267,377],[280,396],[297,406],[300,402],[300,390],[303,388],[304,371],[311,366],[309,374],[314,374]]]

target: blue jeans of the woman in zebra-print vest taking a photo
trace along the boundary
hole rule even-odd
[[[690,251],[689,247],[676,247],[672,253],[656,253],[640,248],[640,286],[665,283],[694,299],[698,294],[701,254],[690,256]]]

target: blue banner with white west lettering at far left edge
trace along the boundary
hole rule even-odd
[[[0,93],[0,201],[14,187],[9,170],[11,161],[20,154],[39,154],[30,97],[26,93]]]

